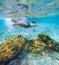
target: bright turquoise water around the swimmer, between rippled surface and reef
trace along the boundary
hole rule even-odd
[[[59,41],[59,15],[43,17],[43,18],[20,18],[19,21],[35,21],[36,26],[30,28],[23,28],[20,26],[13,26],[10,18],[0,19],[0,42],[11,38],[14,35],[21,34],[27,38],[36,38],[39,33],[48,34],[53,39]],[[1,44],[0,43],[0,44]]]

